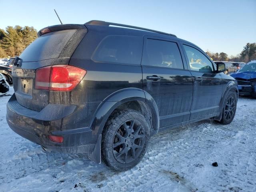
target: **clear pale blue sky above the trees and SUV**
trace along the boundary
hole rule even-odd
[[[0,28],[104,20],[176,34],[203,50],[241,52],[256,42],[256,0],[0,0]]]

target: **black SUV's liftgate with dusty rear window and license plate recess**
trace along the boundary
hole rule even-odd
[[[19,62],[12,68],[13,86],[19,104],[40,111],[49,103],[49,91],[34,88],[36,69],[54,64],[68,64],[74,49],[82,39],[76,36],[78,30],[60,30],[44,34],[22,52]],[[68,43],[72,46],[66,48]]]

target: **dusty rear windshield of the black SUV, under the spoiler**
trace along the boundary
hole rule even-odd
[[[51,32],[40,36],[20,55],[22,62],[34,62],[58,58],[76,29]]]

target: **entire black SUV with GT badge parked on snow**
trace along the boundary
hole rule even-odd
[[[225,64],[175,35],[94,20],[38,36],[14,63],[6,119],[43,148],[128,170],[160,130],[234,118],[238,88]]]

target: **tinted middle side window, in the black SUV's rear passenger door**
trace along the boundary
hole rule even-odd
[[[184,69],[177,43],[147,39],[142,65]]]

